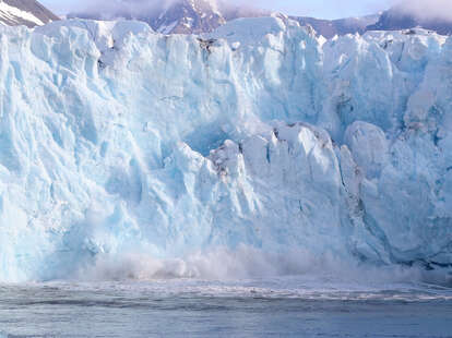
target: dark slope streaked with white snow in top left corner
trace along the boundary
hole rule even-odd
[[[0,23],[10,26],[40,26],[59,20],[36,0],[0,0]]]

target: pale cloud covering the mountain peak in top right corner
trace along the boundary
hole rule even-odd
[[[452,22],[451,0],[402,0],[394,9],[419,20]]]

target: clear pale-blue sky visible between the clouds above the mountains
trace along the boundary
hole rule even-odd
[[[93,2],[92,0],[39,1],[60,15],[71,11],[83,10]],[[108,3],[115,0],[102,1],[108,5]],[[308,15],[320,19],[340,19],[377,13],[388,9],[393,3],[393,0],[243,0],[242,2],[286,14]]]

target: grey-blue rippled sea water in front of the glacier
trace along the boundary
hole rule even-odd
[[[3,285],[0,337],[452,337],[452,289],[295,277]]]

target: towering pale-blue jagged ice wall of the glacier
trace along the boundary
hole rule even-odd
[[[325,41],[284,17],[0,29],[1,280],[219,248],[447,278],[450,38]]]

